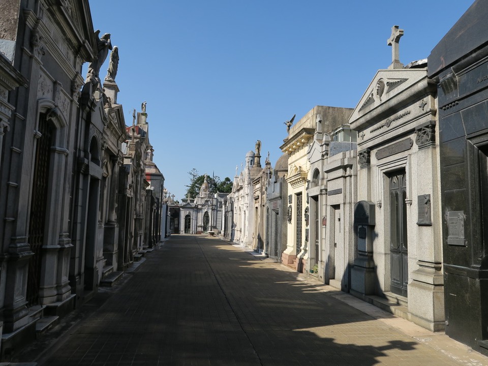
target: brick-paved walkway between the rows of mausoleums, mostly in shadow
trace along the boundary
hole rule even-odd
[[[40,355],[33,358],[31,350],[24,354],[29,359],[17,361],[488,365],[488,358],[442,333],[205,236],[173,235],[118,288],[101,291],[93,301],[92,314],[81,310],[80,320]]]

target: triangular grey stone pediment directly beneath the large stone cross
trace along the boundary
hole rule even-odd
[[[408,103],[413,87],[426,78],[426,68],[379,70],[354,108],[349,123],[353,124],[364,115],[385,113],[388,108]]]

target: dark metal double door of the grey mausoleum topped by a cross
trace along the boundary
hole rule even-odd
[[[407,181],[405,170],[389,177],[390,196],[390,290],[407,296],[408,243],[407,243]]]

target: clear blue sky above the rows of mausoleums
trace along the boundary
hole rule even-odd
[[[293,114],[356,107],[391,63],[393,25],[405,31],[406,65],[428,57],[472,3],[92,0],[90,9],[94,28],[119,48],[126,125],[147,101],[154,161],[179,200],[189,171],[233,179],[258,139],[262,161],[269,151],[274,166]]]

